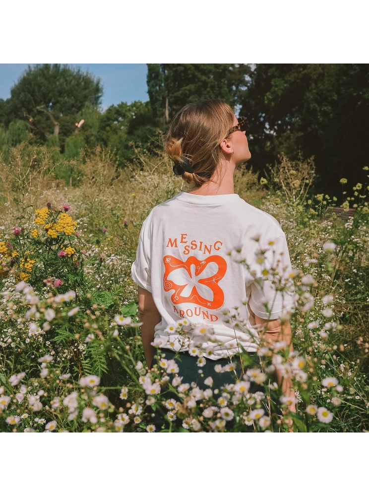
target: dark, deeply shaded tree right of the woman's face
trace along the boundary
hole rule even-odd
[[[277,155],[314,155],[321,187],[332,194],[368,164],[369,64],[256,64],[241,114],[249,116],[252,164]]]

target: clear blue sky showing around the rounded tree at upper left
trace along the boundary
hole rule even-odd
[[[33,65],[33,64],[30,64]],[[131,103],[134,100],[147,101],[145,63],[81,63],[69,64],[81,67],[100,77],[104,88],[102,107],[107,109],[110,105],[120,102]],[[26,63],[1,63],[0,64],[0,98],[6,100],[10,97],[10,88],[18,81]]]

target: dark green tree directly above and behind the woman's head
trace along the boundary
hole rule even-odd
[[[250,72],[246,64],[148,64],[151,108],[168,122],[184,105],[200,100],[219,98],[235,107]]]

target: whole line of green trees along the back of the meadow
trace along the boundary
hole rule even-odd
[[[29,140],[75,158],[82,148],[116,150],[131,160],[132,142],[152,152],[186,103],[221,98],[246,116],[251,164],[262,171],[285,153],[314,156],[327,192],[340,178],[364,182],[369,133],[369,64],[147,64],[149,101],[101,111],[99,78],[61,64],[29,67],[0,100],[0,151]]]

